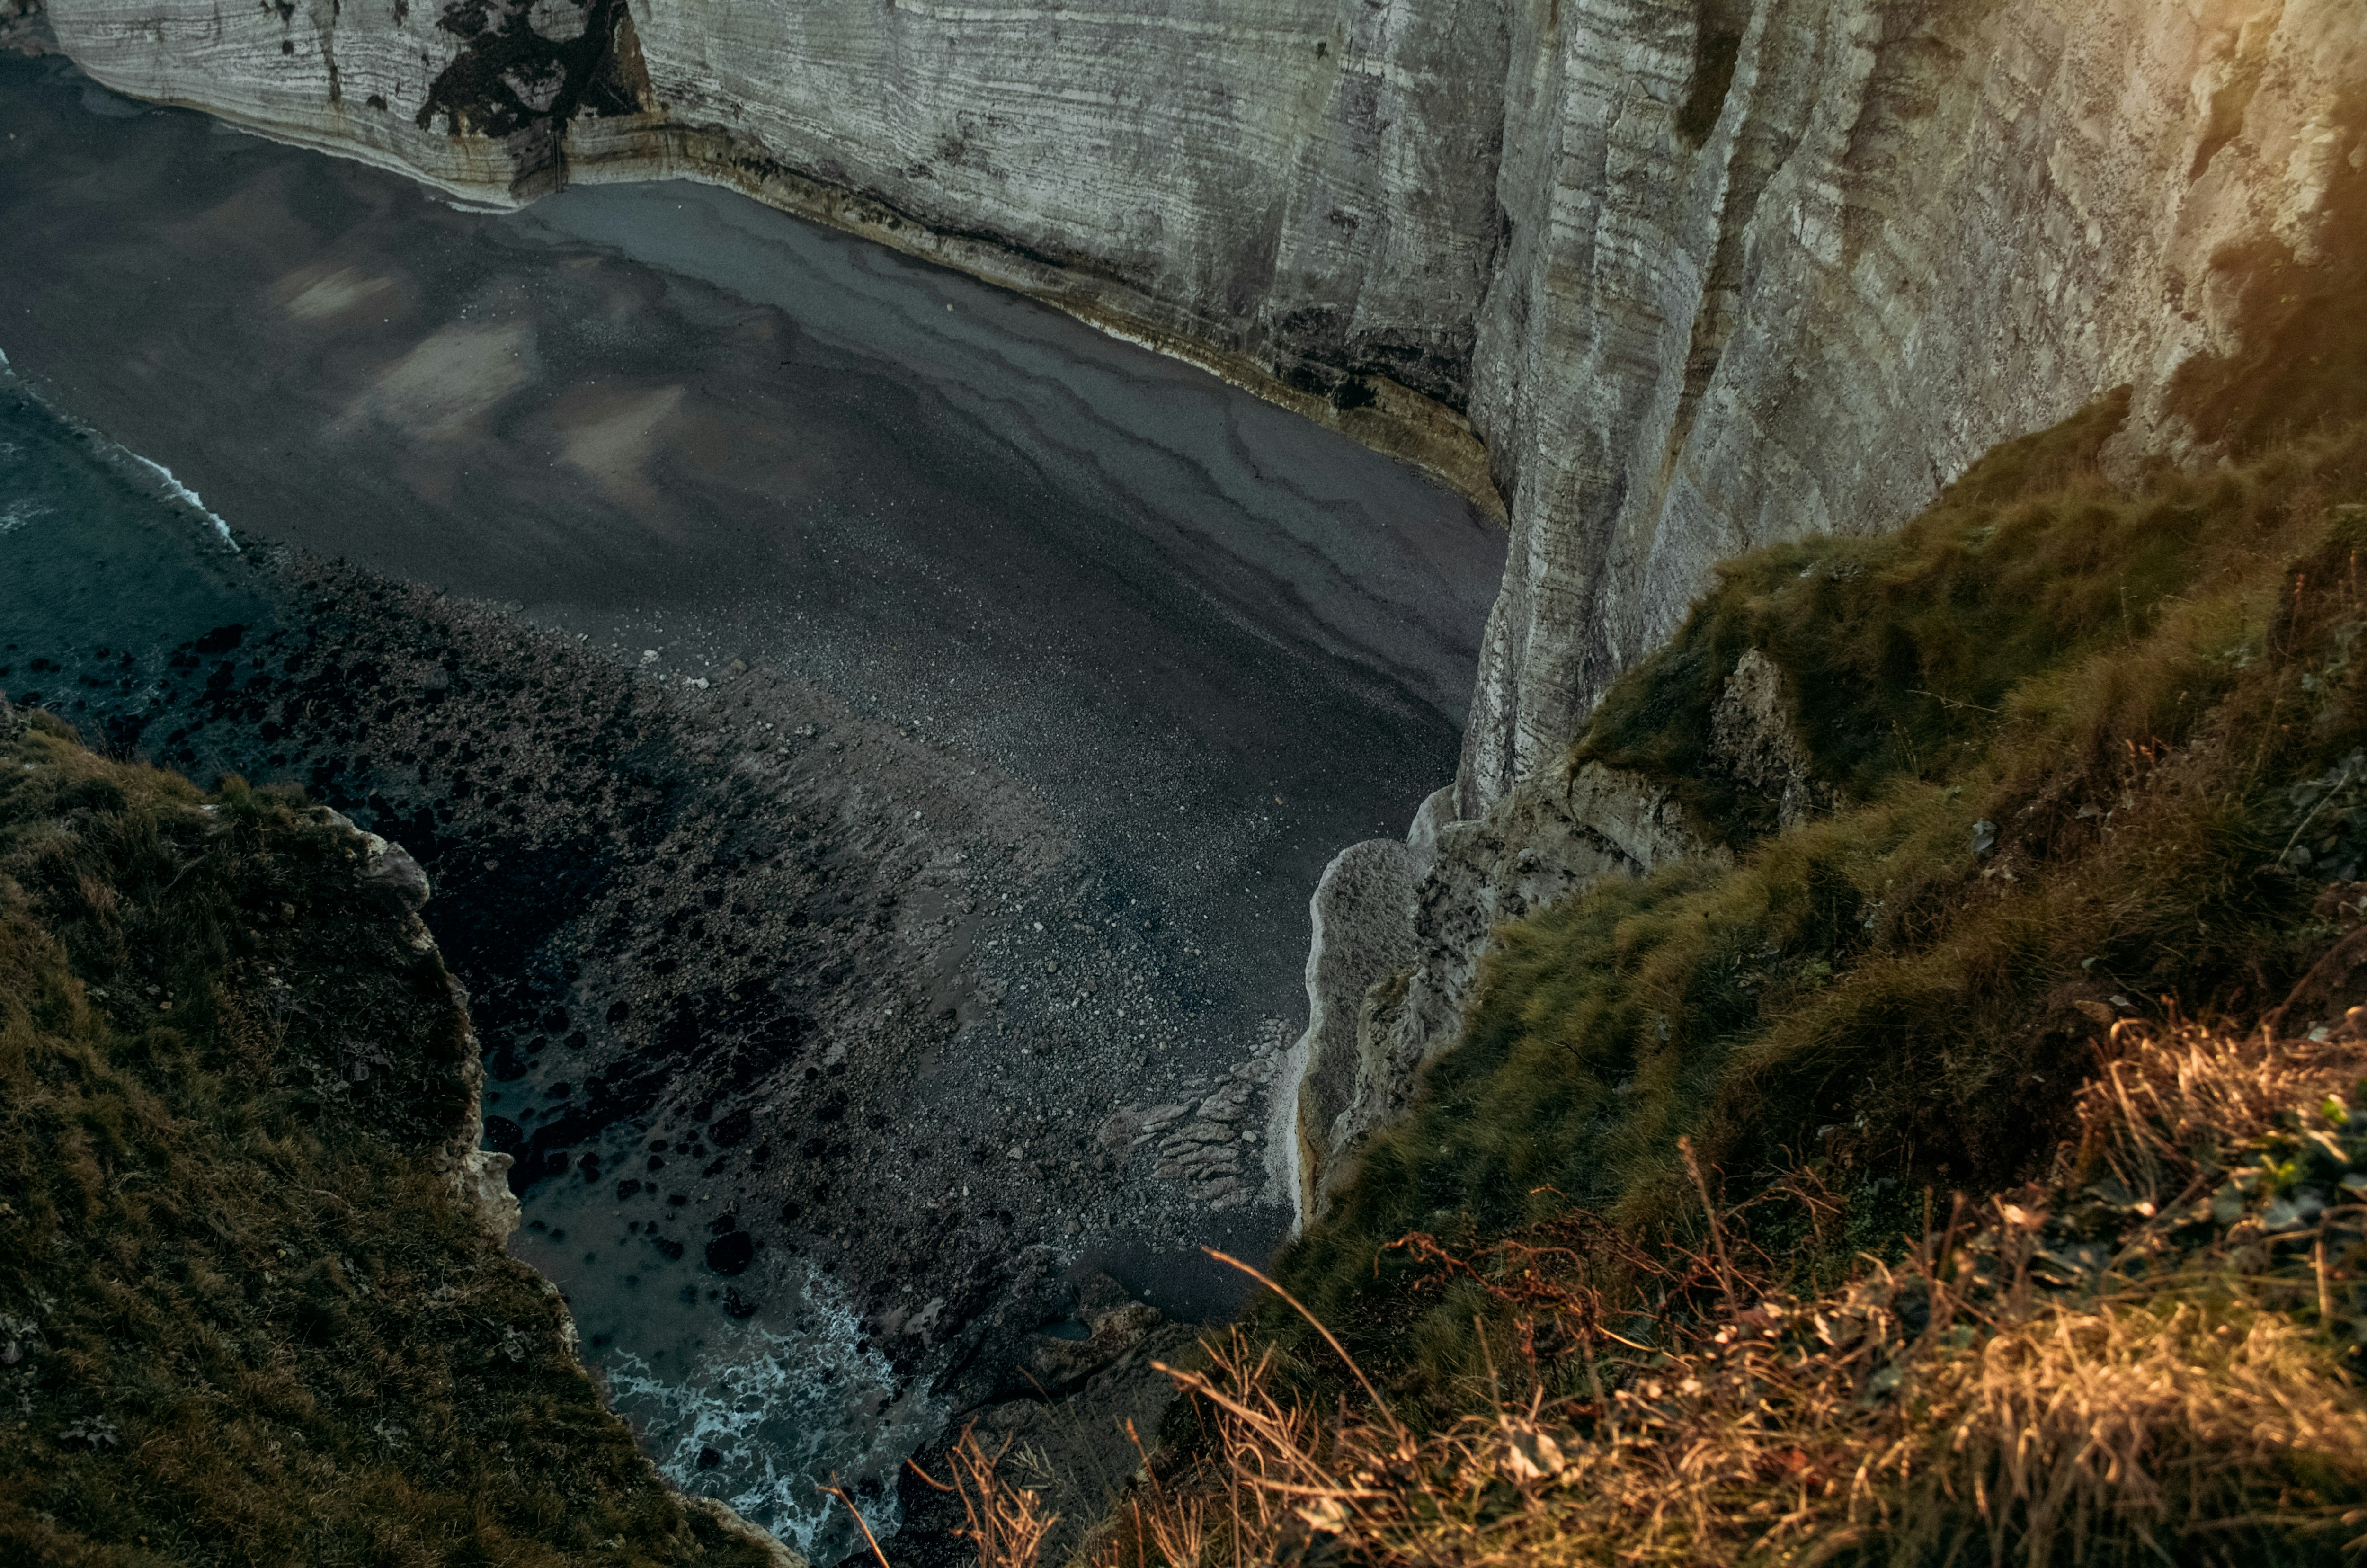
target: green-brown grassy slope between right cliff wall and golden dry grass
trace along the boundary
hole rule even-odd
[[[2367,232],[2367,173],[2329,204],[2329,232]],[[2346,772],[2367,746],[2367,246],[2218,265],[2244,348],[2189,362],[2175,405],[2225,462],[2111,483],[2126,398],[2104,398],[1898,533],[1726,564],[1605,699],[1572,763],[1673,784],[1737,867],[1505,928],[1423,1104],[1283,1258],[1434,1414],[1468,1405],[1482,1303],[1418,1293],[1425,1265],[1389,1246],[1408,1232],[1484,1246],[1584,1213],[1640,1255],[1681,1248],[1688,1135],[1723,1191],[1806,1168],[1846,1199],[1787,1248],[1801,1286],[1830,1281],[1917,1232],[1927,1187],[1946,1208],[2047,1170],[2100,1021],[2163,997],[2258,1016],[2331,940],[2322,886],[2367,876],[2367,765]],[[1707,758],[1747,647],[1837,803],[1780,836]]]

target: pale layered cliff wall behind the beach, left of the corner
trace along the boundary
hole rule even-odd
[[[90,76],[514,206],[739,187],[1176,348],[1486,493],[1496,0],[64,0]]]

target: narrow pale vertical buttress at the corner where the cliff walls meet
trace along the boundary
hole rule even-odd
[[[1465,741],[1465,815],[1565,744],[1591,692],[1633,656],[1602,613],[1621,566],[1647,545],[1621,521],[1659,509],[1681,426],[1728,334],[1733,296],[1721,289],[1735,287],[1766,182],[1744,161],[1749,178],[1735,185],[1742,137],[1733,128],[1735,118],[1754,130],[1766,123],[1763,111],[1733,104],[1756,78],[1749,57],[1768,26],[1763,12],[1735,45],[1723,95],[1733,107],[1700,144],[1681,121],[1704,71],[1718,71],[1723,12],[1621,2],[1588,7],[1584,21],[1562,33],[1555,81],[1524,95],[1527,123],[1513,126],[1513,135],[1550,135],[1557,154],[1543,159],[1548,187],[1527,192],[1546,204],[1539,239],[1515,251],[1482,329],[1491,374],[1477,422],[1520,467],[1508,476],[1513,561],[1482,663],[1494,689],[1472,706],[1489,722],[1475,722]],[[1761,154],[1761,163],[1778,159]]]

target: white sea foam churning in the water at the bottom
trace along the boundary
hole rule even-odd
[[[836,1478],[885,1540],[902,1523],[897,1469],[942,1424],[921,1388],[895,1393],[888,1357],[862,1338],[845,1291],[810,1274],[795,1331],[727,1324],[686,1371],[611,1352],[608,1397],[658,1471],[684,1492],[722,1497],[814,1561],[857,1547]],[[701,1469],[701,1454],[712,1454]],[[817,1556],[817,1542],[821,1544]]]

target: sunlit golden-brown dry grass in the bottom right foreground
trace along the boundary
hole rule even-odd
[[[1361,1374],[1361,1397],[1318,1409],[1236,1326],[1205,1369],[1169,1369],[1200,1440],[1143,1466],[1091,1561],[2355,1561],[2367,1397],[2327,1334],[2355,1289],[2329,1255],[2367,1239],[2367,1210],[2329,1203],[2277,1232],[2260,1203],[2341,1196],[2339,1172],[2367,1161],[2367,1118],[2343,1101],[2367,1068],[2358,1021],[2317,1042],[2121,1028],[2057,1184],[1958,1199],[1903,1262],[1868,1258],[1815,1298],[1768,1286],[1744,1210],[1714,1215],[1702,1255],[1638,1277],[1636,1300],[1586,1284],[1600,1258],[1567,1229],[1482,1258],[1408,1239],[1513,1310],[1475,1414],[1418,1433]],[[2287,1161],[2242,1213],[2194,1203],[2296,1139],[2320,1165]],[[1823,1199],[1808,1182],[1794,1201]],[[1707,1284],[1714,1307],[1638,1326],[1643,1296],[1688,1300],[1671,1279]],[[1557,1362],[1586,1393],[1548,1395]],[[956,1485],[980,1561],[1032,1568],[1032,1499],[997,1490],[975,1440]]]

